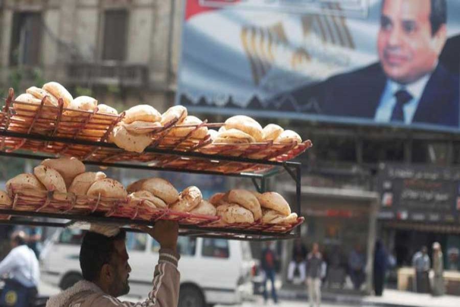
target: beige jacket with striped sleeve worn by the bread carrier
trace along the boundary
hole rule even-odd
[[[170,250],[160,250],[158,265],[153,274],[153,289],[143,302],[122,302],[104,293],[87,280],[51,297],[47,307],[175,307],[179,300],[178,256]]]

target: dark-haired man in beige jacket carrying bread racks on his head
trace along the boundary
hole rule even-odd
[[[142,227],[160,244],[159,260],[153,274],[153,289],[142,302],[122,302],[117,297],[129,292],[131,267],[126,252],[126,232],[113,226],[91,225],[83,237],[80,267],[83,280],[51,297],[47,307],[173,307],[179,299],[179,271],[176,252],[178,224],[158,221],[153,228]]]

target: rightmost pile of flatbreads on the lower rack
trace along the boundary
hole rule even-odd
[[[291,213],[289,204],[280,194],[234,189],[216,193],[209,200],[216,206],[217,215],[224,224],[254,223],[293,224],[297,214]]]

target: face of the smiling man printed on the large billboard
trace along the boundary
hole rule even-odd
[[[430,0],[384,1],[377,49],[388,78],[406,84],[434,69],[446,27],[431,33],[430,12]]]

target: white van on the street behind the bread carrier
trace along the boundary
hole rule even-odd
[[[82,278],[79,262],[80,229],[59,229],[40,254],[41,277],[61,289]],[[158,243],[145,233],[128,232],[129,296],[147,297],[152,289]],[[252,259],[248,242],[179,236],[179,307],[236,304],[252,299]]]

